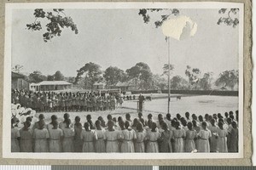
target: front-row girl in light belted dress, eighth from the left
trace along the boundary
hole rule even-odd
[[[106,152],[106,146],[105,146],[105,141],[104,141],[104,133],[105,129],[102,129],[101,126],[101,121],[97,120],[95,122],[96,124],[96,134],[97,134],[97,140],[95,144],[96,152],[102,153]]]

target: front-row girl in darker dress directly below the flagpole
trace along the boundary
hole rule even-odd
[[[166,122],[163,122],[161,127],[164,132],[161,133],[160,137],[160,152],[172,152],[173,132],[168,129]]]

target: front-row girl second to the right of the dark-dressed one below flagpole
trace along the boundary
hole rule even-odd
[[[185,152],[192,152],[195,150],[196,131],[193,129],[192,122],[188,122],[189,130],[186,132]]]

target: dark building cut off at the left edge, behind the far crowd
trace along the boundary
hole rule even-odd
[[[29,82],[26,80],[26,76],[12,71],[12,89],[29,89]]]

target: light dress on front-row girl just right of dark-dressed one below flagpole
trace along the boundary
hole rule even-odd
[[[183,138],[185,138],[185,137],[186,137],[186,133],[183,128],[173,130],[175,152],[184,152],[185,148],[184,148]]]

